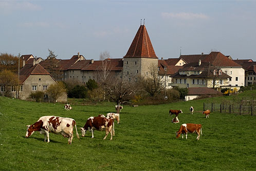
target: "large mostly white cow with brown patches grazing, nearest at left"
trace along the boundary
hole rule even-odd
[[[40,131],[40,134],[44,134],[44,141],[50,142],[49,140],[49,132],[54,134],[61,134],[63,137],[68,138],[68,143],[71,145],[73,139],[73,128],[74,125],[77,131],[76,121],[71,118],[62,118],[55,116],[44,116],[39,118],[32,125],[27,125],[26,138],[31,136],[34,131]],[[77,132],[77,138],[79,139],[79,135]]]

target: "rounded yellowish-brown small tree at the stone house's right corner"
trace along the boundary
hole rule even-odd
[[[47,88],[47,93],[49,94],[49,97],[54,101],[54,103],[57,101],[59,97],[63,93],[66,93],[65,85],[63,82],[58,81],[57,83],[51,84],[49,88]]]

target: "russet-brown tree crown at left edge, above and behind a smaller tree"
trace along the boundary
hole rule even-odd
[[[4,69],[17,73],[19,66],[19,58],[13,54],[0,53],[0,71]],[[20,68],[22,64],[20,63]]]

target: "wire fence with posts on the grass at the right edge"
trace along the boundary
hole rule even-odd
[[[225,104],[225,103],[206,103],[204,102],[205,110],[218,111],[221,113],[233,113],[237,115],[256,115],[256,106],[248,106],[241,104]]]

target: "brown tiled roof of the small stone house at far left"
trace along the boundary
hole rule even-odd
[[[20,82],[24,82],[29,75],[50,75],[40,64],[29,65],[26,64],[20,70]]]

